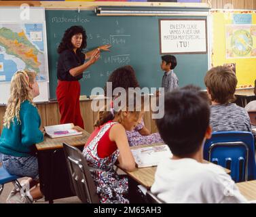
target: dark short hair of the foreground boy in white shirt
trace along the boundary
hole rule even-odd
[[[186,157],[200,149],[209,119],[210,107],[200,91],[173,90],[165,94],[164,117],[156,125],[172,154]]]

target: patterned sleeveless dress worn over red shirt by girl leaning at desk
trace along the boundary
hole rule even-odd
[[[106,123],[84,148],[83,155],[92,167],[91,174],[96,184],[96,191],[100,203],[129,203],[124,194],[128,193],[128,179],[120,178],[113,170],[113,165],[119,155],[119,150],[114,151],[109,157],[98,157],[98,141],[116,122]]]

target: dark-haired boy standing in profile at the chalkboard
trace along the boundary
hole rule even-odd
[[[170,92],[179,87],[179,79],[173,72],[176,66],[177,60],[175,56],[162,56],[161,69],[164,71],[164,76],[162,78],[162,87],[164,87],[164,92]]]

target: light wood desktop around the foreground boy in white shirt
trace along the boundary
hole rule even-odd
[[[156,143],[152,145],[142,145],[142,146],[132,146],[131,149],[139,149],[142,147],[147,147],[147,146],[157,146],[161,145],[162,143]],[[208,161],[204,161],[204,163],[209,163]],[[230,170],[225,169],[225,172],[227,174],[230,174]],[[155,173],[156,173],[156,167],[143,167],[143,168],[137,168],[133,172],[128,172],[125,171],[128,176],[136,180],[136,182],[139,182],[139,184],[142,184],[145,186],[147,189],[150,189],[154,180],[155,180]]]

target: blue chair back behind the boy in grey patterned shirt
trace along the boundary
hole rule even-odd
[[[204,143],[204,159],[231,170],[235,182],[256,179],[255,144],[251,132],[213,132]]]

